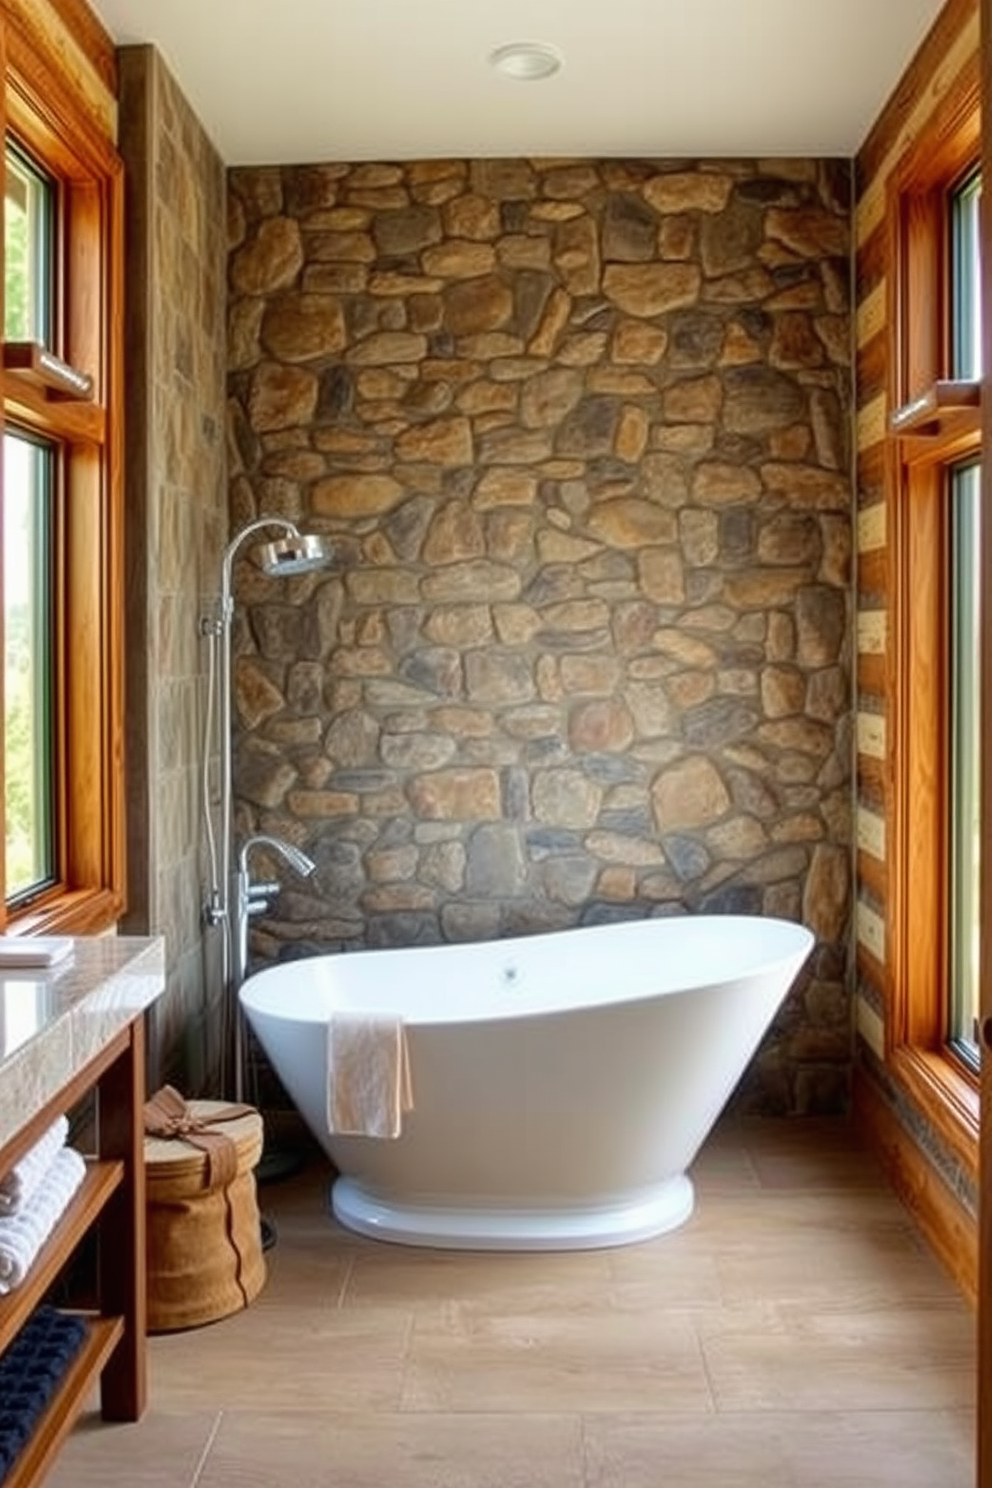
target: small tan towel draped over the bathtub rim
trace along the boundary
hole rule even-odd
[[[327,1021],[327,1129],[399,1137],[409,1110],[413,1089],[403,1019],[333,1012]]]

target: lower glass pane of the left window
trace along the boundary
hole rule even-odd
[[[54,554],[55,446],[3,439],[6,897],[55,878]]]

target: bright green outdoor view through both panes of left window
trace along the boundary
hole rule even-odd
[[[51,186],[6,152],[4,338],[46,341]],[[54,445],[7,432],[3,440],[4,814],[6,896],[51,882],[52,838],[52,570]]]

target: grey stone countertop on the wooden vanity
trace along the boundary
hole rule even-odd
[[[0,970],[0,1147],[164,988],[161,936],[79,936],[49,970]]]

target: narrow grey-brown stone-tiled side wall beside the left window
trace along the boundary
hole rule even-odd
[[[204,655],[226,539],[225,171],[153,48],[123,48],[128,917],[165,936],[150,1080],[216,1088],[220,992],[201,929]]]

